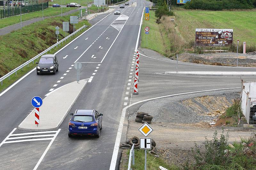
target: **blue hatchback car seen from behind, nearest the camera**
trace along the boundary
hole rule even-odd
[[[76,110],[70,113],[72,116],[68,122],[68,137],[74,135],[92,135],[100,137],[102,129],[102,116],[96,110]]]

